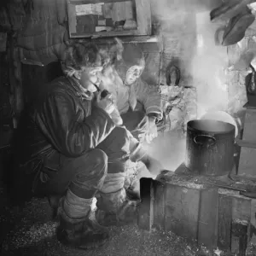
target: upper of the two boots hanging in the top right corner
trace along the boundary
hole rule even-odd
[[[226,1],[210,13],[211,21],[230,20],[236,15],[243,13],[247,4],[255,2],[254,0],[230,0]]]

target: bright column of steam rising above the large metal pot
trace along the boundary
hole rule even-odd
[[[198,118],[210,110],[228,109],[224,73],[228,58],[226,47],[215,44],[214,34],[218,26],[211,23],[209,12],[196,15],[196,51],[190,72],[197,89]]]

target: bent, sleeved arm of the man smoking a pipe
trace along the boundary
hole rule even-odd
[[[90,116],[82,119],[72,96],[64,93],[46,99],[37,122],[49,143],[68,157],[96,148],[115,127],[108,113],[101,108],[93,108]]]

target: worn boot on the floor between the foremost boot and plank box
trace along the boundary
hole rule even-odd
[[[103,226],[137,223],[138,201],[126,197],[125,189],[97,195],[96,220]]]

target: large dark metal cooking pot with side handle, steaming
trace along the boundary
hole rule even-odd
[[[199,175],[228,174],[234,166],[234,144],[234,125],[210,119],[189,121],[185,165]]]

